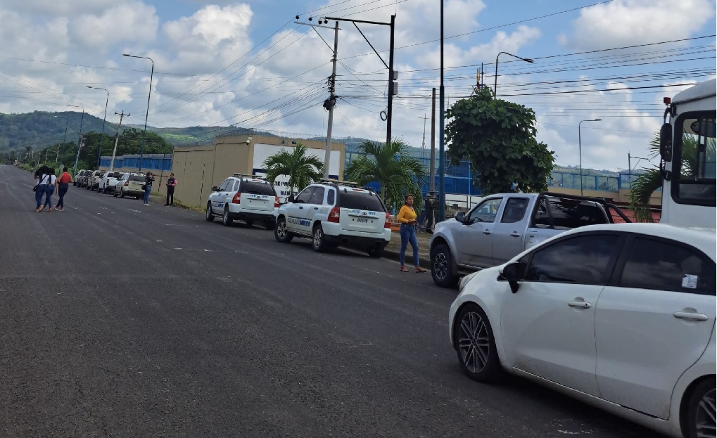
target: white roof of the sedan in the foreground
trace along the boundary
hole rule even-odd
[[[590,231],[615,231],[663,237],[689,244],[717,261],[717,233],[714,229],[673,227],[668,224],[601,224],[571,229],[556,237]]]

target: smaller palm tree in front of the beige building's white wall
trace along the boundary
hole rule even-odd
[[[315,156],[306,155],[306,147],[297,143],[293,151],[282,150],[264,161],[267,180],[274,184],[280,175],[289,177],[289,190],[303,189],[323,177],[323,162]]]

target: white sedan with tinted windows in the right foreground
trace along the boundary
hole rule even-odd
[[[461,283],[468,376],[507,371],[671,437],[715,437],[714,229],[565,232]]]

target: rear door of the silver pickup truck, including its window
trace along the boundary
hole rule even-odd
[[[530,199],[509,197],[505,200],[500,220],[493,226],[493,264],[503,265],[523,252],[526,238],[526,215]]]

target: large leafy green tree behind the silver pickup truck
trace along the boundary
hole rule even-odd
[[[488,88],[458,100],[446,111],[447,156],[470,161],[483,194],[543,191],[553,170],[554,152],[536,141],[536,115],[517,103],[494,99]]]

